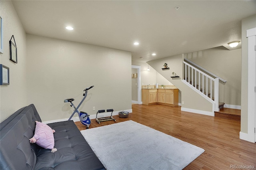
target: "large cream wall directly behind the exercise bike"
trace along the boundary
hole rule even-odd
[[[73,109],[64,99],[77,106],[92,85],[80,110],[132,108],[130,52],[28,34],[27,71],[27,100],[42,121],[69,118]]]

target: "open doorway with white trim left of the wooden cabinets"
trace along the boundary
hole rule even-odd
[[[142,104],[140,66],[132,65],[132,103]]]

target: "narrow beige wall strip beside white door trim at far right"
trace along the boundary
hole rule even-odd
[[[256,15],[242,20],[241,132],[248,133],[248,40],[246,30],[256,27]]]

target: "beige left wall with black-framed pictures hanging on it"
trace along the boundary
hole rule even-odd
[[[4,52],[0,64],[10,68],[10,85],[0,86],[0,122],[19,108],[27,105],[26,100],[26,33],[11,1],[0,1],[0,16],[3,18]],[[18,64],[9,60],[9,40],[14,35]]]

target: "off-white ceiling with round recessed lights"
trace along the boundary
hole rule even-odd
[[[217,46],[229,48],[228,42],[241,41],[241,20],[256,14],[255,0],[12,3],[27,34],[126,50],[140,62]],[[135,41],[140,44],[135,46]]]

